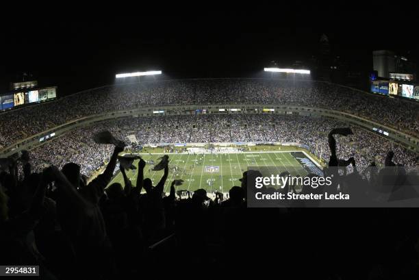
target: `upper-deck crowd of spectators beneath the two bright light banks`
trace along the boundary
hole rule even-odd
[[[418,136],[418,104],[318,81],[191,79],[119,84],[0,114],[0,147],[92,114],[142,105],[283,104],[357,114]],[[205,133],[205,131],[202,131]]]

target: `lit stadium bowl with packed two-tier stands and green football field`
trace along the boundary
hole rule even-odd
[[[383,107],[375,107],[378,102]],[[333,127],[353,127],[354,136],[344,139],[340,150],[344,158],[355,157],[361,171],[370,162],[383,164],[390,150],[396,152],[398,163],[416,168],[416,107],[408,101],[388,101],[316,81],[153,81],[103,86],[5,113],[3,131],[10,120],[19,119],[17,115],[26,120],[17,126],[32,130],[2,133],[7,138],[1,144],[9,154],[16,149],[31,151],[37,171],[50,164],[62,168],[66,162],[77,162],[90,181],[109,161],[112,146],[92,140],[94,133],[107,129],[128,145],[130,153],[143,155],[144,160],[157,163],[159,155],[170,149],[170,177],[185,179],[187,190],[204,188],[227,194],[226,190],[240,185],[238,179],[248,166],[283,166],[283,171],[303,175],[301,160],[292,155],[298,151],[313,164],[324,166],[329,162],[327,133]],[[357,109],[351,114],[351,108]],[[390,134],[386,137],[377,129]],[[209,144],[214,147],[208,149]],[[207,170],[210,166],[217,169]],[[153,173],[153,177],[160,174]],[[114,181],[121,181],[121,176],[116,174]]]

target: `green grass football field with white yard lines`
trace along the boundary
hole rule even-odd
[[[296,150],[294,150],[296,151]],[[150,155],[151,153],[151,155]],[[155,164],[162,157],[162,153],[139,153],[142,158],[149,162],[153,160]],[[177,186],[176,190],[194,191],[199,188],[207,192],[228,192],[233,186],[240,186],[242,173],[252,166],[268,167],[275,172],[281,173],[285,170],[291,175],[307,175],[307,170],[296,160],[292,151],[250,151],[242,153],[212,153],[212,154],[193,154],[193,153],[173,153],[169,155],[169,175],[164,186],[164,192],[169,192],[170,183],[174,179],[183,179],[183,184]],[[299,155],[303,155],[299,153]],[[304,154],[310,162],[311,159]],[[134,162],[138,166],[138,161]],[[214,166],[214,167],[210,167]],[[153,166],[147,164],[144,168],[144,178],[151,178],[153,185],[157,184],[163,175],[163,170],[153,171]],[[177,170],[175,171],[174,168]],[[211,172],[212,171],[212,172]],[[133,186],[136,184],[138,170],[127,171],[127,176],[131,179]],[[121,183],[123,186],[123,176],[118,172],[111,183]]]

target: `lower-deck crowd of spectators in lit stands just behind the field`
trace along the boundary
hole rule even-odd
[[[214,143],[214,142],[281,142],[304,144],[310,151],[329,161],[327,131],[347,126],[336,120],[307,116],[277,114],[202,114],[183,116],[153,116],[108,120],[82,127],[49,140],[34,149],[34,168],[66,162],[77,162],[88,177],[107,162],[110,147],[92,140],[94,133],[105,129],[123,139],[135,150],[144,144]],[[372,161],[383,161],[387,151],[404,166],[417,167],[418,155],[386,140],[372,131],[352,127],[353,135],[338,142],[343,157],[354,157],[360,171]]]

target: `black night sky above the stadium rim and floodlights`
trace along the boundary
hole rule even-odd
[[[62,94],[112,84],[115,73],[149,69],[173,78],[251,77],[271,60],[283,66],[307,60],[323,33],[337,53],[364,68],[371,67],[372,49],[411,51],[418,59],[413,10],[348,10],[342,2],[317,9],[303,2],[165,10],[117,4],[106,11],[61,7],[3,16],[0,88],[24,71],[42,86],[58,85]]]

